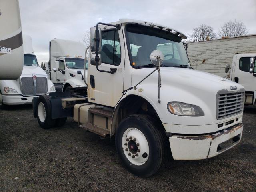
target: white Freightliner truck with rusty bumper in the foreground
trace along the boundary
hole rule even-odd
[[[152,22],[98,23],[90,29],[87,92],[34,98],[34,117],[51,128],[73,116],[81,128],[115,136],[125,168],[140,177],[170,154],[199,160],[225,152],[242,137],[244,87],[193,70],[182,39]]]

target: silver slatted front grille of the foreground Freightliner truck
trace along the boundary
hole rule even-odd
[[[223,119],[242,113],[244,108],[244,90],[228,92],[220,90],[217,94],[217,119]]]

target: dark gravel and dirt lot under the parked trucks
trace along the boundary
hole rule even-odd
[[[242,142],[208,160],[170,161],[142,179],[126,171],[114,141],[78,128],[43,130],[32,106],[0,110],[0,191],[256,191],[256,108]]]

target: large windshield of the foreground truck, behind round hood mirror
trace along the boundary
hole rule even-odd
[[[164,55],[162,66],[190,66],[188,56],[181,38],[170,32],[142,26],[128,24],[126,26],[127,44],[130,44],[130,62],[134,68],[153,66],[150,54],[153,50],[160,50]]]

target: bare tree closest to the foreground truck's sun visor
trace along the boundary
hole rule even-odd
[[[216,34],[214,33],[214,29],[211,26],[202,24],[197,28],[194,28],[192,34],[188,34],[188,37],[192,42],[196,42],[215,39]]]

